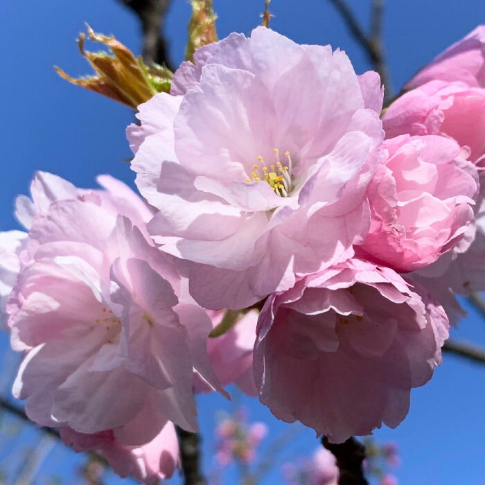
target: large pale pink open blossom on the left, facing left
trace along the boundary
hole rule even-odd
[[[211,321],[170,256],[107,198],[57,200],[31,221],[8,302],[12,346],[27,351],[14,394],[40,425],[141,446],[167,421],[197,429],[194,369],[217,387]]]

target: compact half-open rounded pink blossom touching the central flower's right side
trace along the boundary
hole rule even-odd
[[[476,170],[443,136],[398,136],[385,154],[368,195],[371,228],[359,250],[398,272],[430,265],[463,238],[473,222]]]

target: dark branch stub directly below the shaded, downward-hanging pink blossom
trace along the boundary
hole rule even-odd
[[[365,447],[362,443],[355,438],[349,438],[345,443],[335,444],[324,437],[321,444],[337,459],[339,485],[368,485],[362,466],[365,459]]]

